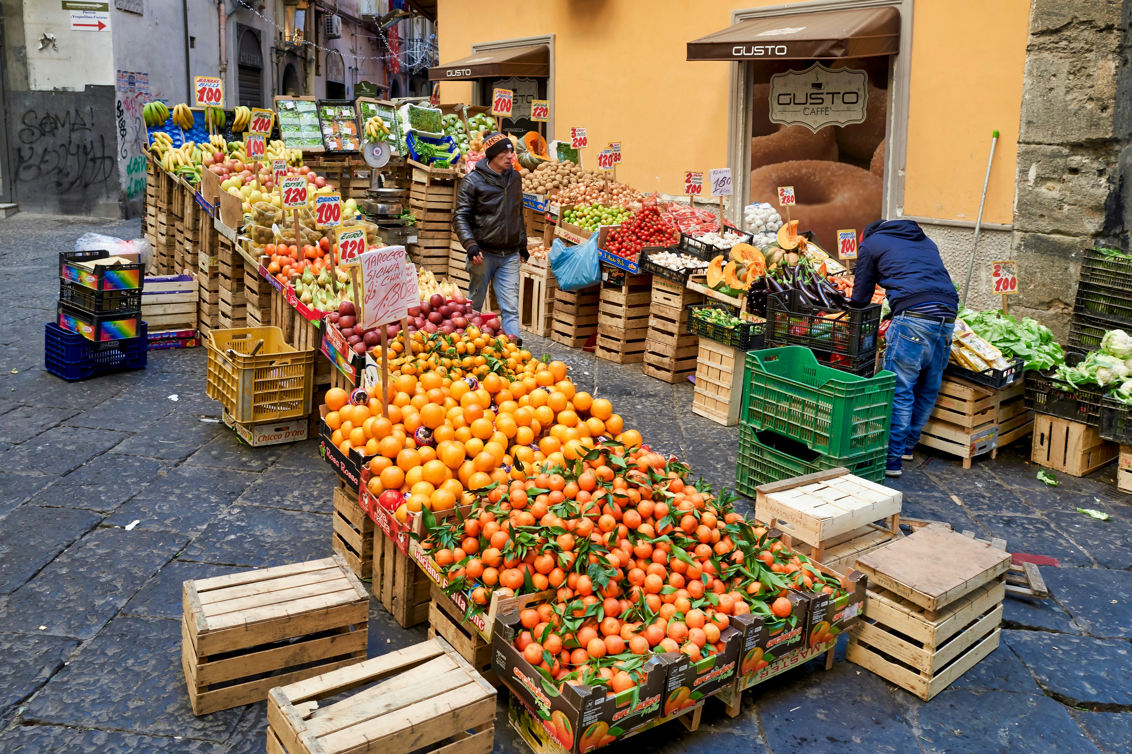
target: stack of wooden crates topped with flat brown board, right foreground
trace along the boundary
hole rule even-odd
[[[1011,556],[929,525],[857,558],[864,619],[846,659],[927,701],[998,647]]]

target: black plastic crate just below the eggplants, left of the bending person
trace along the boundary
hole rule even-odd
[[[766,297],[767,343],[864,356],[876,350],[880,328],[880,304],[848,310],[817,307],[792,288]]]

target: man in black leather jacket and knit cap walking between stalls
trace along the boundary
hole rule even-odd
[[[503,312],[503,330],[518,335],[520,250],[526,249],[523,179],[512,168],[515,147],[503,133],[484,141],[484,156],[460,183],[452,226],[468,251],[469,295],[483,311],[488,283]]]

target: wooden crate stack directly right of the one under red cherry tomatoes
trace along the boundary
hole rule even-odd
[[[703,300],[703,294],[677,283],[660,276],[652,278],[649,332],[644,341],[645,374],[664,382],[683,382],[695,374],[700,337],[687,332],[687,306]]]

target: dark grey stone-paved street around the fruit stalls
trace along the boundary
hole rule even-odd
[[[18,215],[0,220],[0,752],[265,751],[266,703],[196,717],[180,662],[181,582],[326,557],[336,477],[317,442],[252,449],[217,423],[205,349],[153,350],[148,367],[67,383],[43,369],[57,254],[87,232],[138,220]],[[541,338],[655,449],[732,487],[737,427],[694,415],[669,385]],[[737,718],[706,703],[698,733],[669,725],[651,752],[1132,751],[1132,499],[1115,465],[1036,478],[1030,441],[996,460],[917,449],[903,513],[945,521],[1040,564],[1053,599],[1007,597],[1002,644],[931,702],[844,661],[818,658],[744,693]],[[749,510],[740,503],[740,510]],[[1077,511],[1109,514],[1100,521]],[[370,603],[369,655],[426,639]],[[528,751],[496,718],[496,752]]]

